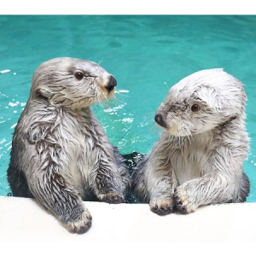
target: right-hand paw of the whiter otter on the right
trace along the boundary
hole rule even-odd
[[[182,212],[195,212],[197,206],[189,200],[189,195],[185,189],[177,189],[173,199],[178,210]]]

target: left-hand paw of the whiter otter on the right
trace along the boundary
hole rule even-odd
[[[159,215],[166,215],[173,211],[175,203],[171,197],[158,198],[149,202],[150,210]]]

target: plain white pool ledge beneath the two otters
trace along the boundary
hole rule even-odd
[[[202,242],[256,244],[256,203],[200,207],[196,212],[158,216],[146,204],[84,202],[92,226],[71,234],[37,201],[0,196],[0,241],[4,242]],[[169,253],[168,253],[169,254]],[[170,254],[171,255],[171,254]]]

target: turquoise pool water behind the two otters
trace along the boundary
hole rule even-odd
[[[247,201],[256,201],[256,16],[0,16],[0,195],[12,133],[40,63],[71,56],[100,62],[118,81],[117,101],[94,111],[122,154],[148,153],[154,113],[169,88],[201,69],[223,67],[245,84],[251,152]]]

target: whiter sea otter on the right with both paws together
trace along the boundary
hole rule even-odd
[[[243,202],[249,139],[243,84],[222,69],[193,73],[172,86],[155,115],[160,140],[131,177],[137,200],[160,215],[176,206]]]

